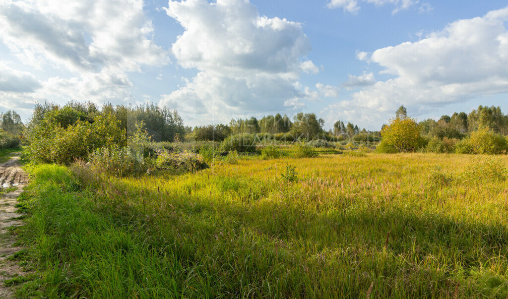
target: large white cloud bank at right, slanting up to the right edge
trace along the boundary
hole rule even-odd
[[[329,107],[382,124],[398,106],[423,113],[435,106],[508,92],[508,7],[457,20],[417,42],[378,49],[370,61],[392,75]],[[360,112],[361,111],[361,112]],[[376,113],[372,113],[376,112]]]

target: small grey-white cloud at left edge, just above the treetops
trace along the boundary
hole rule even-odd
[[[33,92],[41,87],[34,75],[13,70],[0,61],[0,91]]]

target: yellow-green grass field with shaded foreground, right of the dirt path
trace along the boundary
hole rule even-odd
[[[31,167],[20,258],[38,275],[19,294],[506,297],[507,164],[361,153],[125,179]]]

